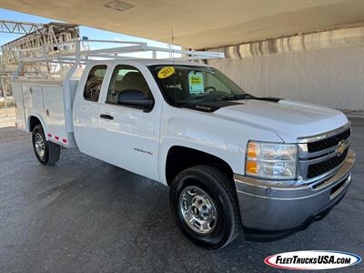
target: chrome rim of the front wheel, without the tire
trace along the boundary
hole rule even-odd
[[[217,224],[217,210],[212,198],[201,188],[186,187],[179,196],[179,210],[192,230],[208,234]]]

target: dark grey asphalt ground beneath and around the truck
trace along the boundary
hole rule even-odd
[[[288,238],[250,242],[240,235],[218,250],[183,236],[167,187],[76,149],[43,167],[29,134],[0,128],[0,272],[277,272],[264,258],[308,249],[363,258],[364,118],[351,122],[357,166],[348,194],[327,217]],[[331,272],[363,269],[361,262]]]

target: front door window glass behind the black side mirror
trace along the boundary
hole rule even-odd
[[[118,96],[125,91],[141,91],[153,98],[142,73],[134,66],[116,66],[107,91],[106,103],[118,104]]]

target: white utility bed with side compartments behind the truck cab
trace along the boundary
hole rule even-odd
[[[31,121],[26,118],[36,116],[47,128],[47,140],[74,146],[72,105],[78,80],[69,83],[65,86],[61,80],[13,80],[16,126],[29,131],[30,127],[26,126],[31,126]]]

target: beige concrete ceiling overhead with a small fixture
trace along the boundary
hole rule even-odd
[[[364,22],[364,0],[0,0],[2,8],[192,48]]]

